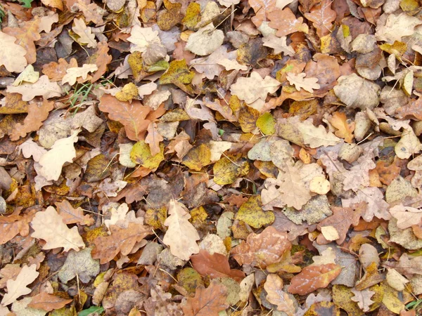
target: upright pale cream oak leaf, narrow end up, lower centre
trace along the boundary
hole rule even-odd
[[[198,254],[199,246],[196,240],[200,239],[198,232],[189,223],[191,218],[184,204],[172,199],[169,206],[169,217],[164,222],[168,226],[162,242],[170,246],[170,251],[177,258],[189,260],[192,254]]]

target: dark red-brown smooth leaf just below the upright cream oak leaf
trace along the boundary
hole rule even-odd
[[[199,254],[191,256],[193,269],[198,271],[200,275],[209,275],[212,279],[215,277],[231,277],[237,282],[245,277],[245,273],[241,270],[231,269],[229,260],[226,256],[218,254],[210,254],[204,249],[200,249]]]

